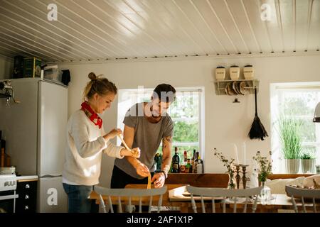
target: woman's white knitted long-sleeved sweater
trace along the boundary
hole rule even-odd
[[[111,157],[123,158],[118,147],[102,136],[105,130],[96,126],[78,110],[68,121],[68,146],[65,150],[63,178],[80,185],[99,184],[102,152]]]

